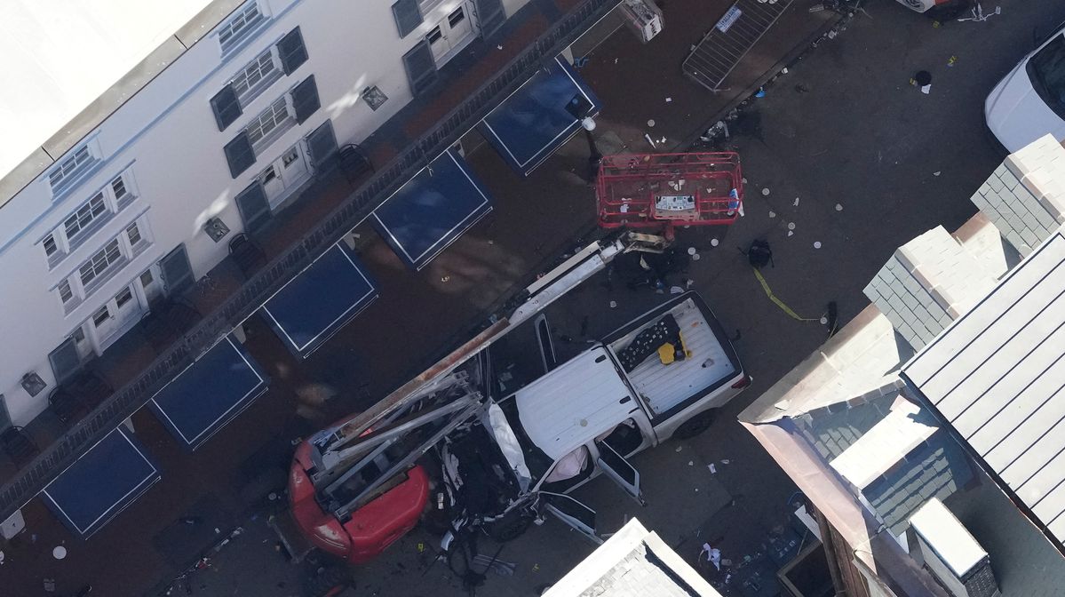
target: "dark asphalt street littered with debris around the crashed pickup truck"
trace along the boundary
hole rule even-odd
[[[985,132],[983,100],[1031,49],[1033,30],[1065,19],[1065,4],[1052,0],[1006,1],[987,21],[938,28],[889,0],[864,4],[867,14],[857,14],[838,36],[791,65],[734,123],[731,144],[740,151],[748,178],[746,216],[728,229],[678,235],[681,245],[695,247],[701,259],[675,281],[694,280],[725,327],[740,332],[736,346],[754,384],[704,435],[635,459],[648,507],[628,501],[606,480],[581,488],[579,497],[600,511],[603,531],[635,515],[689,561],[704,542],[721,546],[724,558],[741,560],[787,521],[793,485],[736,416],[816,350],[825,328],[794,321],[773,305],[736,247],[755,238],[770,242],[775,267],[766,277],[799,313],[818,317],[835,301],[841,323],[854,317],[868,304],[862,289],[900,244],[938,225],[953,230],[976,212],[968,197],[1002,159]],[[956,62],[949,67],[951,57]],[[929,95],[908,84],[922,69],[933,75]],[[600,122],[604,133],[632,125],[611,122],[609,114]],[[790,236],[789,223],[794,224]],[[716,247],[711,239],[718,239]],[[606,317],[611,300],[632,309],[660,298],[648,289],[608,289],[599,281],[581,291],[572,318],[559,323],[561,333],[574,335],[564,328],[567,321]],[[465,595],[443,565],[430,565],[432,540],[415,532],[358,570],[359,594]],[[262,586],[256,594],[293,594],[295,570],[272,560],[278,556],[266,538],[245,547],[233,552],[240,558],[232,565],[219,554],[218,572],[203,577],[215,581],[194,580],[194,594],[250,594],[241,590],[250,585],[239,579],[261,566],[277,581],[257,575]],[[515,564],[514,576],[489,575],[481,593],[534,595],[590,549],[554,521],[535,527],[501,553]]]

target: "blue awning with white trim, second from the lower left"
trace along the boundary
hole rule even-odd
[[[266,391],[268,380],[232,336],[200,355],[151,398],[151,408],[191,450]]]

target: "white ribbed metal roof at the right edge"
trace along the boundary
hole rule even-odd
[[[1063,265],[1059,231],[903,369],[1059,545],[1065,538]]]

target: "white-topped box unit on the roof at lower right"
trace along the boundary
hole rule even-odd
[[[910,517],[910,553],[954,597],[998,597],[987,552],[936,498]]]

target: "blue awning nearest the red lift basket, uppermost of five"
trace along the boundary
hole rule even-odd
[[[485,116],[481,132],[503,159],[528,176],[580,130],[602,104],[569,62],[556,57]]]

